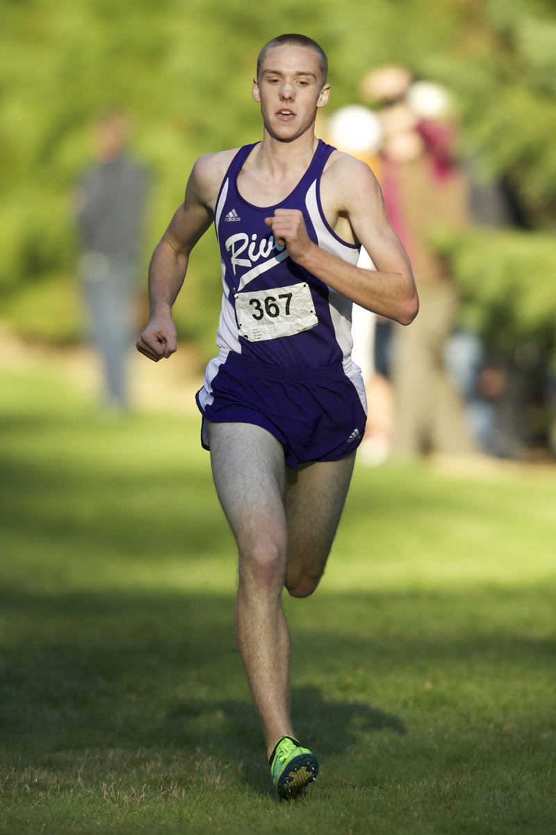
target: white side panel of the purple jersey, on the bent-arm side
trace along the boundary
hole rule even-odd
[[[317,180],[309,186],[305,198],[308,215],[311,218],[315,232],[317,233],[318,245],[333,256],[338,256],[348,264],[357,264],[359,251],[353,246],[343,244],[338,240],[325,225],[318,209]],[[345,358],[351,356],[353,340],[351,335],[351,310],[352,303],[338,291],[328,287],[328,304],[330,306],[330,317],[332,319],[336,341]]]

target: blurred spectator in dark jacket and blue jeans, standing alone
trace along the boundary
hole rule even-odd
[[[122,112],[99,119],[97,161],[78,185],[76,207],[83,248],[79,282],[90,336],[103,362],[104,403],[115,411],[128,406],[128,352],[148,192],[147,170],[129,156],[128,135]]]

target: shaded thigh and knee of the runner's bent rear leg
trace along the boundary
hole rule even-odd
[[[286,586],[296,597],[310,595],[323,575],[348,495],[354,462],[355,453],[352,453],[339,461],[302,464],[298,470],[286,470]]]

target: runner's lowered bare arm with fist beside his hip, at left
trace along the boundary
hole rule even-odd
[[[217,154],[218,156],[218,154]],[[177,348],[172,307],[182,288],[193,246],[213,222],[214,201],[222,177],[214,155],[200,157],[193,166],[179,206],[153,252],[148,270],[148,326],[138,338],[137,349],[153,362],[170,357]]]

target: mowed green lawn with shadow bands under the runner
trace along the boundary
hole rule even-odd
[[[556,832],[556,469],[357,466],[279,803],[198,417],[0,372],[2,832]]]

